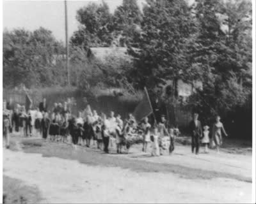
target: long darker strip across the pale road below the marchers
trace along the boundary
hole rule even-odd
[[[80,163],[94,166],[114,166],[130,169],[137,172],[161,172],[175,173],[186,179],[214,179],[227,178],[236,179],[244,182],[252,182],[252,178],[234,175],[231,173],[221,173],[199,168],[188,168],[177,164],[154,163],[151,161],[137,160],[136,156],[131,159],[120,154],[115,156],[115,151],[111,154],[102,154],[102,151],[94,148],[78,147],[76,150],[72,145],[66,143],[48,142],[42,139],[22,140],[22,149],[26,153],[42,154],[44,157],[59,157],[62,159],[77,160]],[[143,155],[142,157],[150,157]]]

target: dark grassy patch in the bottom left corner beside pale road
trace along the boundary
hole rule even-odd
[[[3,203],[39,203],[41,200],[37,187],[26,186],[18,179],[3,176]]]

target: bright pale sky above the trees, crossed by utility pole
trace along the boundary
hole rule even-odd
[[[93,1],[68,1],[68,35],[77,30],[76,11]],[[102,3],[101,0],[94,1]],[[122,0],[105,0],[111,12]],[[3,1],[3,28],[24,28],[30,31],[40,26],[52,31],[58,40],[65,41],[64,1]]]

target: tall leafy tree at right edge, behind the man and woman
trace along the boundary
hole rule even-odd
[[[204,91],[192,96],[191,104],[202,111],[205,120],[207,115],[208,119],[214,114],[225,116],[246,104],[250,97],[252,43],[248,5],[247,1],[196,1],[198,33],[189,43],[192,54],[188,59],[193,77],[200,73],[196,76],[204,82]],[[243,25],[240,21],[244,21]]]

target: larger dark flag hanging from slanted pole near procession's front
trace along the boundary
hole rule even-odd
[[[137,121],[140,121],[141,119],[143,119],[144,117],[147,117],[151,113],[153,113],[153,109],[150,103],[150,99],[148,97],[147,89],[145,87],[143,99],[142,101],[140,101],[138,106],[136,106],[133,112],[133,115]]]

